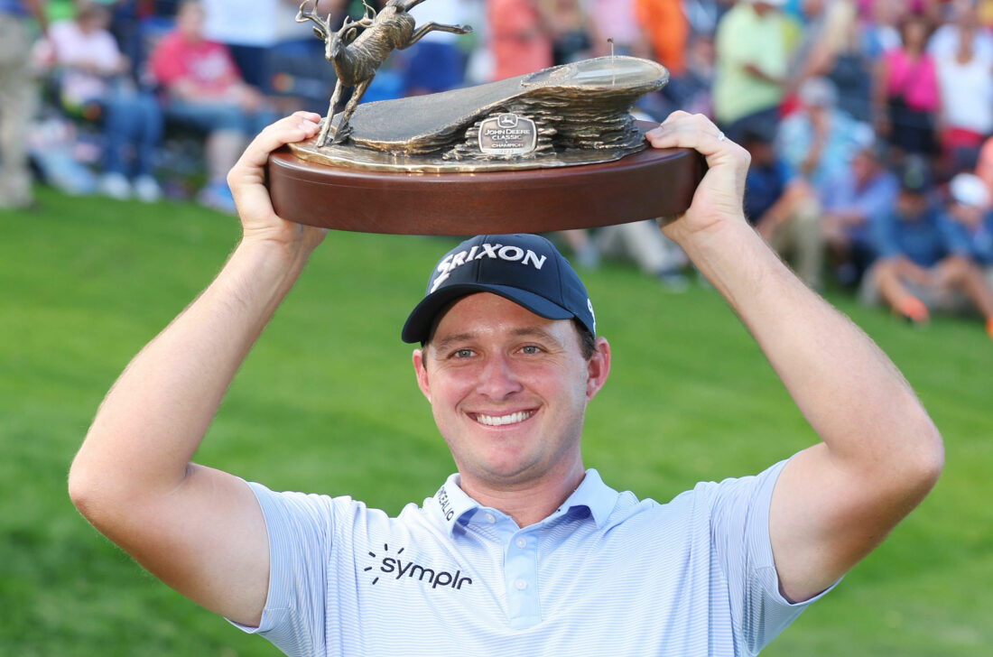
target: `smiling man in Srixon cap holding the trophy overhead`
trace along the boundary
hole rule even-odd
[[[941,442],[914,392],[745,221],[744,150],[681,112],[647,139],[709,171],[664,232],[822,443],[669,504],[607,487],[580,451],[611,365],[593,305],[543,239],[483,235],[441,259],[403,329],[458,468],[423,507],[390,519],[191,463],[324,237],[278,217],[263,185],[269,152],[318,119],[266,128],[231,171],[241,243],[124,371],[72,464],[76,506],[177,591],[293,655],[754,654],[934,483]]]

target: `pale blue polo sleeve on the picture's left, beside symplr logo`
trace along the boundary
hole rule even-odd
[[[336,520],[357,502],[248,484],[265,517],[269,538],[269,591],[258,633],[287,655],[324,654],[329,565]]]

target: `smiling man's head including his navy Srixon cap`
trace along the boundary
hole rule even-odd
[[[569,263],[535,235],[480,235],[447,253],[402,337],[466,482],[490,487],[582,471],[586,405],[610,368]],[[586,347],[584,347],[586,343]]]

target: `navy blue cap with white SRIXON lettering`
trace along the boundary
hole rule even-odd
[[[548,320],[575,318],[597,334],[586,288],[551,242],[538,235],[477,235],[438,261],[424,299],[403,325],[403,341],[427,341],[446,306],[477,292],[499,295]]]

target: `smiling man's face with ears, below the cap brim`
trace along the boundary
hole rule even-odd
[[[413,360],[464,478],[506,487],[582,468],[586,405],[610,368],[604,338],[586,360],[572,321],[478,293],[449,309]]]

